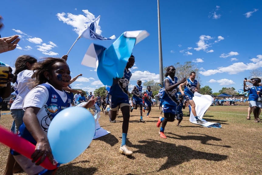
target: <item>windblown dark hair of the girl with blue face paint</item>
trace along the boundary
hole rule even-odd
[[[66,63],[64,59],[49,57],[44,58],[34,66],[33,70],[36,72],[33,75],[35,78],[33,87],[48,82],[48,79],[45,77],[44,72],[47,71],[51,74],[54,68],[53,65],[57,62]]]

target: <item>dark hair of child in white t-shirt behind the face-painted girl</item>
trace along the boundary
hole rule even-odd
[[[34,58],[31,55],[21,55],[21,56],[19,56],[16,59],[16,63],[15,63],[16,70],[15,70],[14,78],[13,78],[12,82],[13,83],[16,82],[17,74],[19,74],[20,72],[22,72],[22,71],[27,69],[26,63],[33,64],[33,63],[36,63],[36,62],[37,62],[37,59]]]

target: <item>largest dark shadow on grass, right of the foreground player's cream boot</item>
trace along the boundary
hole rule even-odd
[[[143,153],[149,158],[159,159],[167,157],[167,161],[162,164],[158,171],[171,168],[191,159],[206,159],[211,161],[222,161],[228,158],[226,155],[195,151],[187,146],[176,146],[173,143],[162,142],[159,140],[139,141],[143,145],[131,145],[138,149],[135,152]],[[151,149],[152,148],[152,149]]]

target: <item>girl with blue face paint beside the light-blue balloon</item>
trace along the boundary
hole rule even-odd
[[[60,58],[46,58],[33,68],[35,70],[35,86],[24,98],[23,124],[19,131],[21,137],[36,145],[31,159],[17,153],[15,159],[27,174],[38,174],[45,169],[40,165],[48,157],[53,165],[56,162],[47,138],[50,123],[56,114],[71,105],[71,97],[63,90],[71,80],[70,69]],[[91,98],[84,105],[93,106],[95,100]],[[39,159],[40,158],[40,159]]]

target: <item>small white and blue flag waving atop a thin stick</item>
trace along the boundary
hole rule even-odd
[[[84,23],[85,29],[82,30],[79,33],[79,38],[83,37],[83,38],[87,38],[87,39],[90,39],[90,40],[112,40],[112,39],[115,39],[115,35],[113,35],[109,38],[105,38],[105,37],[102,37],[102,35],[99,35],[99,34],[96,33],[100,17],[101,16],[99,15],[94,21]]]

